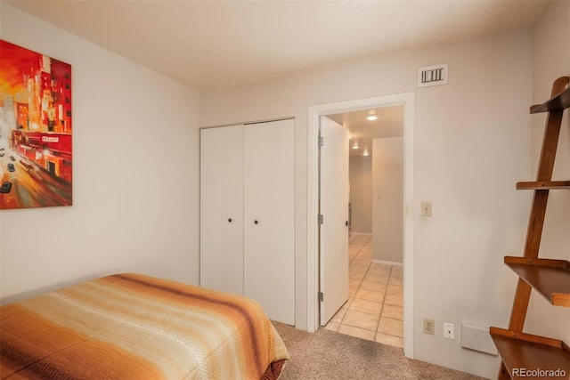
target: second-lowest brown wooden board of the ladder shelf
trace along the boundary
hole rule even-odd
[[[550,303],[570,307],[569,262],[506,256],[505,263]]]

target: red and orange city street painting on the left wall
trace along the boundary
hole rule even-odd
[[[72,204],[71,66],[0,40],[0,209]]]

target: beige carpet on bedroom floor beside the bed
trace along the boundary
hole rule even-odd
[[[291,356],[280,380],[482,379],[423,361],[406,359],[403,350],[398,347],[324,328],[311,334],[279,322],[273,323]]]

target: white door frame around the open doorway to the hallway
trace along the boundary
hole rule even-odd
[[[395,93],[309,106],[307,127],[307,330],[319,328],[319,123],[320,117],[403,105],[403,353],[413,359],[413,140],[414,93]]]

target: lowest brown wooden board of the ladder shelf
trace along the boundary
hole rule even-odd
[[[489,331],[511,378],[545,378],[544,373],[525,376],[521,373],[523,368],[528,371],[558,369],[566,371],[566,376],[570,373],[570,349],[564,342],[499,327],[491,327]]]

